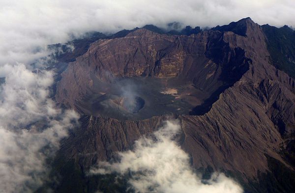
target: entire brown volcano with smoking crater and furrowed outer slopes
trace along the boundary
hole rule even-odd
[[[245,18],[190,34],[135,28],[83,49],[89,40],[80,40],[56,64],[55,100],[82,118],[62,141],[54,162],[60,183],[50,186],[92,190],[92,165],[131,149],[169,117],[180,122],[176,140],[196,170],[225,172],[245,192],[294,192],[295,80],[286,66],[295,58],[285,58],[292,46],[273,54],[283,33],[293,41],[293,30]]]

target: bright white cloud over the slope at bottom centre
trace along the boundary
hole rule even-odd
[[[136,193],[242,193],[241,187],[222,173],[202,181],[193,172],[189,156],[173,140],[178,123],[167,121],[154,138],[140,138],[134,149],[118,153],[120,162],[101,162],[90,174],[131,173],[128,183]],[[205,183],[204,183],[205,182]]]

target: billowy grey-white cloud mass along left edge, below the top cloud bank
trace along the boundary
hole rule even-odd
[[[0,67],[0,192],[36,190],[49,172],[46,159],[59,140],[78,123],[79,115],[62,111],[49,98],[53,72],[33,73],[17,63]]]

